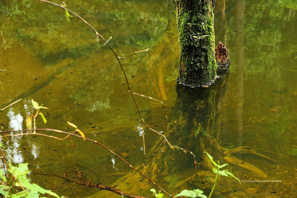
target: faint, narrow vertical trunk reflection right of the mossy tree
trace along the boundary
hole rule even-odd
[[[237,84],[237,108],[236,123],[238,132],[238,146],[242,145],[242,129],[243,129],[243,104],[244,104],[244,10],[245,1],[236,2],[236,24],[238,24],[238,36],[236,39],[236,77]]]

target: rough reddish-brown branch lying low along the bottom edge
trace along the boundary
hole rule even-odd
[[[101,184],[95,184],[95,183],[86,183],[85,181],[79,181],[79,180],[75,180],[73,178],[68,178],[66,176],[61,176],[61,175],[56,175],[56,174],[48,174],[48,173],[35,173],[34,174],[37,174],[37,175],[51,175],[51,176],[55,176],[55,177],[58,177],[58,178],[61,178],[61,179],[64,179],[64,180],[67,180],[67,181],[71,181],[71,182],[74,182],[74,183],[77,183],[81,186],[86,186],[86,187],[92,187],[92,188],[97,188],[99,190],[107,190],[107,191],[111,191],[111,192],[114,192],[116,194],[119,194],[119,195],[122,195],[123,197],[130,197],[130,198],[146,198],[146,197],[142,197],[142,196],[137,196],[137,195],[133,195],[133,194],[129,194],[129,193],[126,193],[124,191],[121,191],[120,189],[116,189],[116,188],[112,188],[111,186],[104,186],[104,185],[101,185]]]

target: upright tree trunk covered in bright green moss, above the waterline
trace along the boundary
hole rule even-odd
[[[180,47],[179,83],[208,85],[216,76],[214,1],[176,0]]]

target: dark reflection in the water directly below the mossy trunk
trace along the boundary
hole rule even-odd
[[[211,146],[211,139],[214,136],[214,121],[219,113],[219,104],[224,96],[227,79],[228,75],[218,79],[207,88],[189,88],[178,85],[176,103],[170,115],[170,121],[164,128],[164,135],[168,137],[172,145],[192,151],[199,160],[204,159],[202,166],[208,170],[212,170],[212,166],[203,151],[214,156],[217,152],[217,148]],[[166,182],[165,178],[177,172],[184,170],[184,175],[187,175],[178,178],[178,181],[181,181],[195,175],[198,170],[193,168],[193,158],[189,153],[184,154],[181,150],[170,149],[162,137],[159,137],[150,153],[145,156],[144,165],[146,168],[143,166],[137,168],[161,186]],[[189,168],[191,172],[185,171]],[[175,177],[180,176],[176,174]],[[141,195],[147,196],[146,193],[154,186],[147,181],[140,182],[140,180],[143,178],[138,173],[131,171],[117,180],[115,185],[121,185],[121,190],[134,194],[141,190]],[[181,186],[170,187],[170,190],[173,191],[175,188],[180,190]],[[106,196],[108,195],[105,192],[97,194],[97,197]],[[96,195],[92,197],[96,197]]]

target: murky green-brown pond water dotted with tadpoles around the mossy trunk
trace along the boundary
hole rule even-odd
[[[151,59],[148,52],[141,52],[121,62],[132,90],[163,101],[170,115],[176,99],[174,79],[178,69],[174,2],[169,6],[165,6],[168,2],[153,0],[71,3],[66,2],[67,8],[82,16],[106,39],[112,37],[109,43],[118,56],[150,48]],[[230,165],[228,169],[239,179],[281,180],[282,183],[246,182],[240,186],[236,181],[228,184],[225,178],[219,178],[214,196],[294,197],[296,194],[296,10],[296,4],[291,1],[216,1],[216,42],[222,41],[228,47],[231,64],[214,138],[228,149],[241,146],[264,149],[257,152],[277,161],[250,153],[238,154],[238,159],[268,175],[264,179]],[[26,128],[26,117],[34,112],[30,102],[33,98],[49,108],[42,110],[48,122],[44,124],[41,118],[37,119],[38,128],[71,131],[66,123],[70,121],[86,137],[102,142],[124,159],[129,156],[127,161],[132,165],[141,164],[143,144],[137,108],[112,51],[107,46],[101,48],[104,42],[78,18],[70,17],[68,22],[62,9],[43,2],[2,0],[0,13],[3,32],[0,70],[5,70],[0,71],[0,108],[20,98],[24,104],[20,102],[0,112],[3,127],[6,130]],[[135,95],[135,98],[145,121],[162,131],[167,124],[162,106],[144,97]],[[46,134],[64,137],[52,132]],[[146,147],[154,146],[157,139],[157,135],[146,130]],[[63,175],[66,169],[79,164],[94,183],[115,186],[117,180],[131,171],[98,145],[76,138],[71,140],[22,136],[5,137],[1,141],[5,142],[9,159],[29,163],[35,172]],[[183,147],[183,142],[180,144]],[[160,171],[162,173],[162,169]],[[187,174],[191,178],[189,183],[185,178],[181,183],[180,173],[176,170],[174,175],[160,174],[157,182],[172,194],[178,193],[170,190],[176,189],[176,185],[180,190],[200,188],[208,192],[213,184],[211,181],[200,184],[198,181],[206,180],[191,178],[190,173]],[[30,174],[29,178],[47,189],[63,182],[51,176]],[[142,179],[139,176],[139,180]],[[137,180],[136,185],[129,185],[139,183]],[[129,186],[123,185],[118,188]],[[128,193],[151,196],[148,190],[151,187],[147,183],[146,189]],[[96,189],[71,184],[55,192],[73,197],[98,195]],[[110,195],[116,196],[105,193],[101,197]]]

